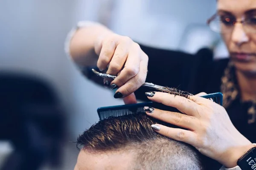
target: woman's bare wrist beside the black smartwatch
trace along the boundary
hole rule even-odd
[[[241,156],[243,156],[248,150],[252,147],[255,147],[252,143],[248,143],[241,146],[231,147],[227,152],[222,156],[221,164],[226,168],[233,168],[237,166],[237,161]]]

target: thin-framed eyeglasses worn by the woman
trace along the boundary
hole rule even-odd
[[[236,23],[241,23],[247,34],[256,33],[256,17],[246,18],[238,22],[235,17],[219,16],[218,14],[214,14],[209,20],[207,20],[207,24],[212,31],[221,34],[232,32]]]

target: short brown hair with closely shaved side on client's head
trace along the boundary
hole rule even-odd
[[[160,123],[145,113],[109,117],[91,126],[77,139],[77,146],[96,152],[134,151],[134,169],[202,170],[199,153],[189,144],[162,136],[151,125]]]

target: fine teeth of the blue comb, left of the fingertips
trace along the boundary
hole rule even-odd
[[[134,114],[134,113],[145,113],[144,108],[140,107],[137,108],[137,110],[129,110],[129,109],[118,109],[118,110],[108,110],[108,111],[99,111],[99,119],[103,120],[103,119],[107,119],[110,116],[124,116],[124,115],[128,115],[128,114]]]

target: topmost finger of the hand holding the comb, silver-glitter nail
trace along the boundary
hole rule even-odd
[[[148,96],[148,99],[154,102],[177,108],[181,113],[185,113],[190,116],[196,116],[198,105],[186,97],[163,92],[146,92],[145,94]]]

